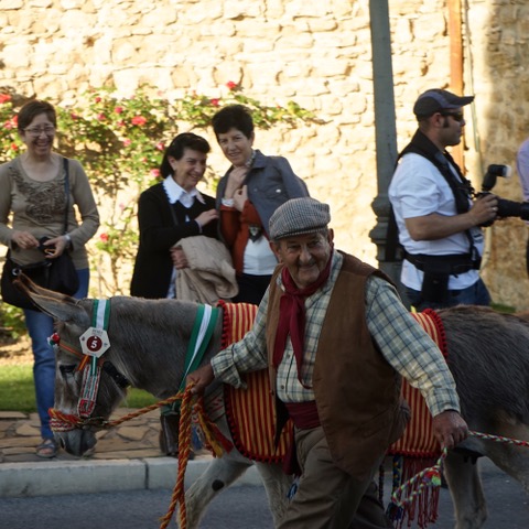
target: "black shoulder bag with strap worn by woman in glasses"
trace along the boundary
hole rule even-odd
[[[64,190],[66,193],[66,209],[64,217],[64,233],[67,231],[68,226],[68,198],[69,198],[69,174],[68,161],[64,159],[64,169],[66,176],[64,180]],[[77,270],[74,267],[72,257],[67,251],[64,251],[55,259],[45,259],[40,262],[20,266],[17,264],[10,256],[6,256],[1,279],[2,300],[10,305],[19,306],[20,309],[39,310],[36,305],[20,291],[14,284],[13,280],[19,273],[24,273],[36,284],[55,292],[73,295],[79,288],[79,278]]]

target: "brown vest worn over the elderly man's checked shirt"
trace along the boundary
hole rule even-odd
[[[343,253],[342,270],[333,288],[322,324],[314,366],[313,388],[320,421],[337,466],[365,478],[389,445],[399,439],[409,418],[400,398],[400,376],[386,361],[366,324],[365,288],[373,273],[390,281],[353,256]],[[281,289],[270,282],[267,347],[270,384],[279,321]]]

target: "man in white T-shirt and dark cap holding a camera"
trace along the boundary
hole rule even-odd
[[[463,107],[474,96],[430,89],[413,106],[419,128],[399,154],[389,199],[404,249],[401,282],[411,305],[422,311],[457,304],[488,305],[479,278],[484,237],[498,199],[473,199],[471,183],[446,151],[461,142]]]

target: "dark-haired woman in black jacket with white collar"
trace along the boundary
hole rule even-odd
[[[140,245],[130,288],[131,295],[175,298],[175,274],[185,257],[173,246],[185,237],[218,238],[215,198],[196,184],[206,171],[208,142],[191,132],[176,136],[165,150],[160,175],[164,179],[140,195]]]

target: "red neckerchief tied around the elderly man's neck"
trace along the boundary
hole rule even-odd
[[[333,255],[331,253],[327,264],[322,270],[314,283],[299,289],[294,283],[292,276],[287,267],[281,271],[284,292],[279,302],[279,324],[276,334],[276,344],[273,347],[273,367],[277,369],[281,364],[287,346],[287,337],[290,334],[292,347],[294,349],[295,364],[298,366],[298,380],[304,387],[301,380],[301,366],[303,364],[303,350],[305,341],[305,299],[316,292],[324,284],[331,274],[331,263]]]

